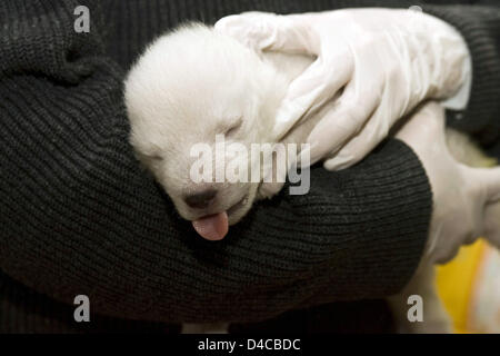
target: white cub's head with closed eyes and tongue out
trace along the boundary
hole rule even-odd
[[[222,238],[256,199],[259,181],[250,176],[261,157],[251,146],[273,141],[280,80],[257,53],[201,24],[157,39],[126,80],[139,160],[208,239]],[[249,179],[234,181],[246,169]]]

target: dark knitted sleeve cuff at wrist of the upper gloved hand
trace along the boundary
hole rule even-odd
[[[423,10],[454,26],[472,56],[469,105],[463,112],[448,112],[448,123],[474,135],[500,158],[500,6],[423,6]]]

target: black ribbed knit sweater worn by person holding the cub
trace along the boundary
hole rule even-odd
[[[73,30],[90,8],[90,33]],[[259,202],[221,243],[200,239],[128,145],[122,79],[153,37],[184,20],[401,1],[0,2],[0,330],[68,332],[160,323],[252,322],[336,300],[379,298],[410,278],[431,191],[417,156],[390,140],[356,167],[314,168],[306,196]],[[411,3],[413,4],[413,3]],[[462,31],[473,59],[466,116],[497,142],[500,10],[424,7]],[[454,122],[453,122],[454,120]],[[157,323],[154,323],[157,322]],[[138,324],[133,324],[138,325]]]

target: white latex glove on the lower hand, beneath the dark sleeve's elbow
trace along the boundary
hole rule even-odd
[[[446,144],[444,109],[427,103],[396,137],[418,155],[431,185],[426,257],[446,263],[480,236],[500,247],[500,168],[470,168],[453,159]]]

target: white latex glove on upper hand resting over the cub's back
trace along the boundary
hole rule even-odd
[[[277,117],[277,137],[344,88],[308,138],[311,164],[337,152],[324,162],[327,169],[358,162],[424,98],[448,98],[470,79],[461,36],[418,11],[248,12],[222,18],[216,29],[257,51],[318,57],[290,85]]]

